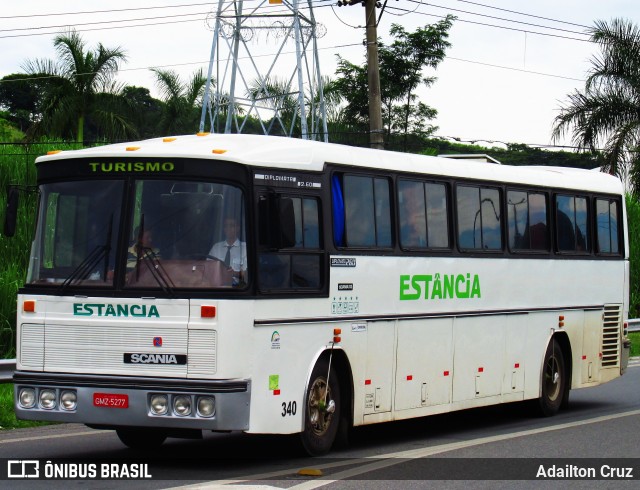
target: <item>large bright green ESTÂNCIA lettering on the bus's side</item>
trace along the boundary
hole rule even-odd
[[[416,274],[400,276],[400,299],[480,298],[478,274]]]

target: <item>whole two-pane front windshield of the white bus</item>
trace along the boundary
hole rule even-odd
[[[170,291],[247,283],[239,188],[153,179],[126,184],[41,186],[28,284]]]

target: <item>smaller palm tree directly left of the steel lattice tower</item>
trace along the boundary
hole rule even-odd
[[[173,70],[153,68],[156,84],[163,100],[162,116],[158,130],[164,134],[194,132],[200,123],[200,107],[207,78],[202,69],[183,83]]]

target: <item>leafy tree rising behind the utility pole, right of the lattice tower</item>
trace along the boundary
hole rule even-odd
[[[454,19],[447,16],[412,33],[393,24],[390,34],[394,41],[389,46],[378,42],[382,119],[387,136],[396,131],[405,136],[416,130],[426,134],[435,131],[428,121],[435,118],[437,111],[419,102],[416,91],[436,81],[435,77],[425,77],[423,69],[435,69],[444,59],[451,46],[447,38]],[[328,94],[339,94],[346,101],[345,119],[354,128],[365,128],[369,118],[366,63],[356,65],[338,55],[336,75]]]

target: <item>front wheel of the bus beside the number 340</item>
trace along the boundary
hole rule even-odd
[[[327,454],[333,445],[340,423],[340,384],[337,372],[331,371],[327,385],[327,360],[313,368],[304,403],[302,445],[311,456]]]

